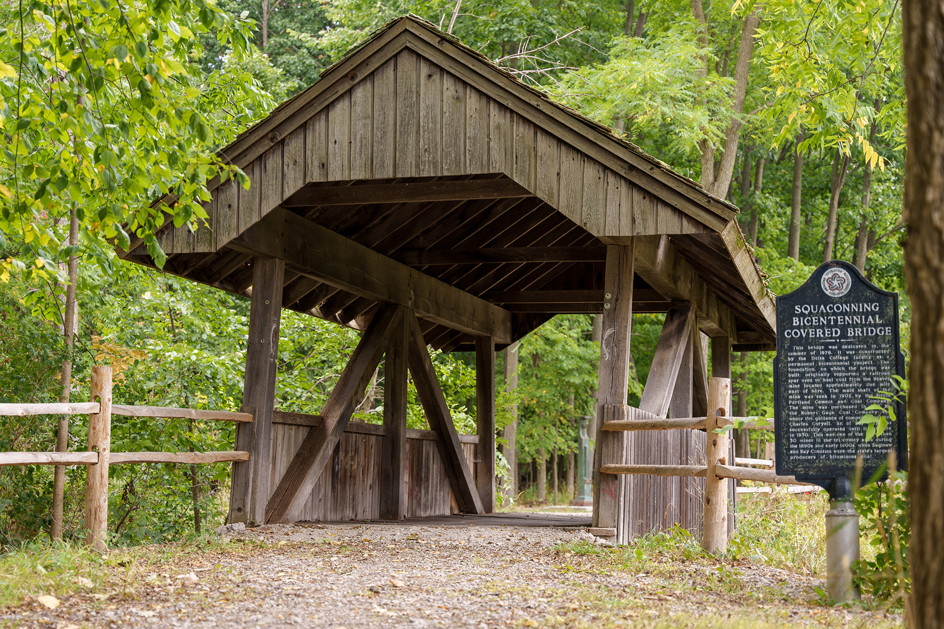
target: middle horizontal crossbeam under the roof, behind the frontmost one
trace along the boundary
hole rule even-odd
[[[503,262],[603,262],[606,247],[486,247],[458,251],[402,251],[396,259],[411,266],[436,264],[500,264]]]

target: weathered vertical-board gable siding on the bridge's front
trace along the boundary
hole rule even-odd
[[[166,230],[166,252],[216,251],[307,183],[464,174],[506,174],[597,236],[710,231],[410,49],[271,140],[249,190],[213,191],[212,231]]]

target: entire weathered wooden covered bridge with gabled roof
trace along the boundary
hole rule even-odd
[[[599,415],[626,406],[632,312],[665,312],[641,408],[706,410],[732,351],[773,347],[736,208],[413,17],[386,25],[222,150],[209,222],[167,223],[164,270],[251,299],[231,521],[495,509],[495,353],[557,313],[602,313]],[[173,203],[165,198],[164,203]],[[121,252],[153,266],[143,241]],[[281,308],[363,330],[319,415],[274,409]],[[476,352],[457,435],[428,347]],[[385,360],[384,424],[349,422]],[[430,431],[406,429],[408,372]],[[597,433],[597,462],[696,463],[697,430]],[[604,460],[605,459],[605,460]],[[620,540],[697,528],[704,479],[602,474]]]

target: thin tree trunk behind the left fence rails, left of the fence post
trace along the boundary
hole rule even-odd
[[[69,212],[69,245],[78,244],[78,216],[76,208]],[[63,316],[62,334],[65,340],[65,360],[62,361],[62,373],[59,384],[62,392],[59,402],[69,403],[72,393],[72,348],[76,339],[76,325],[78,323],[78,302],[76,301],[76,283],[78,282],[78,256],[70,256],[68,262],[69,286],[65,290],[65,313]],[[56,434],[56,452],[66,452],[69,449],[69,416],[59,417]],[[65,518],[65,466],[57,465],[53,472],[53,516],[49,528],[49,537],[62,538],[62,527]]]

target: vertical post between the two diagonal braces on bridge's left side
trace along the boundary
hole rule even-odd
[[[394,323],[390,343],[383,358],[383,438],[380,455],[380,519],[407,517],[409,477],[407,476],[407,380],[410,326],[401,312]]]

